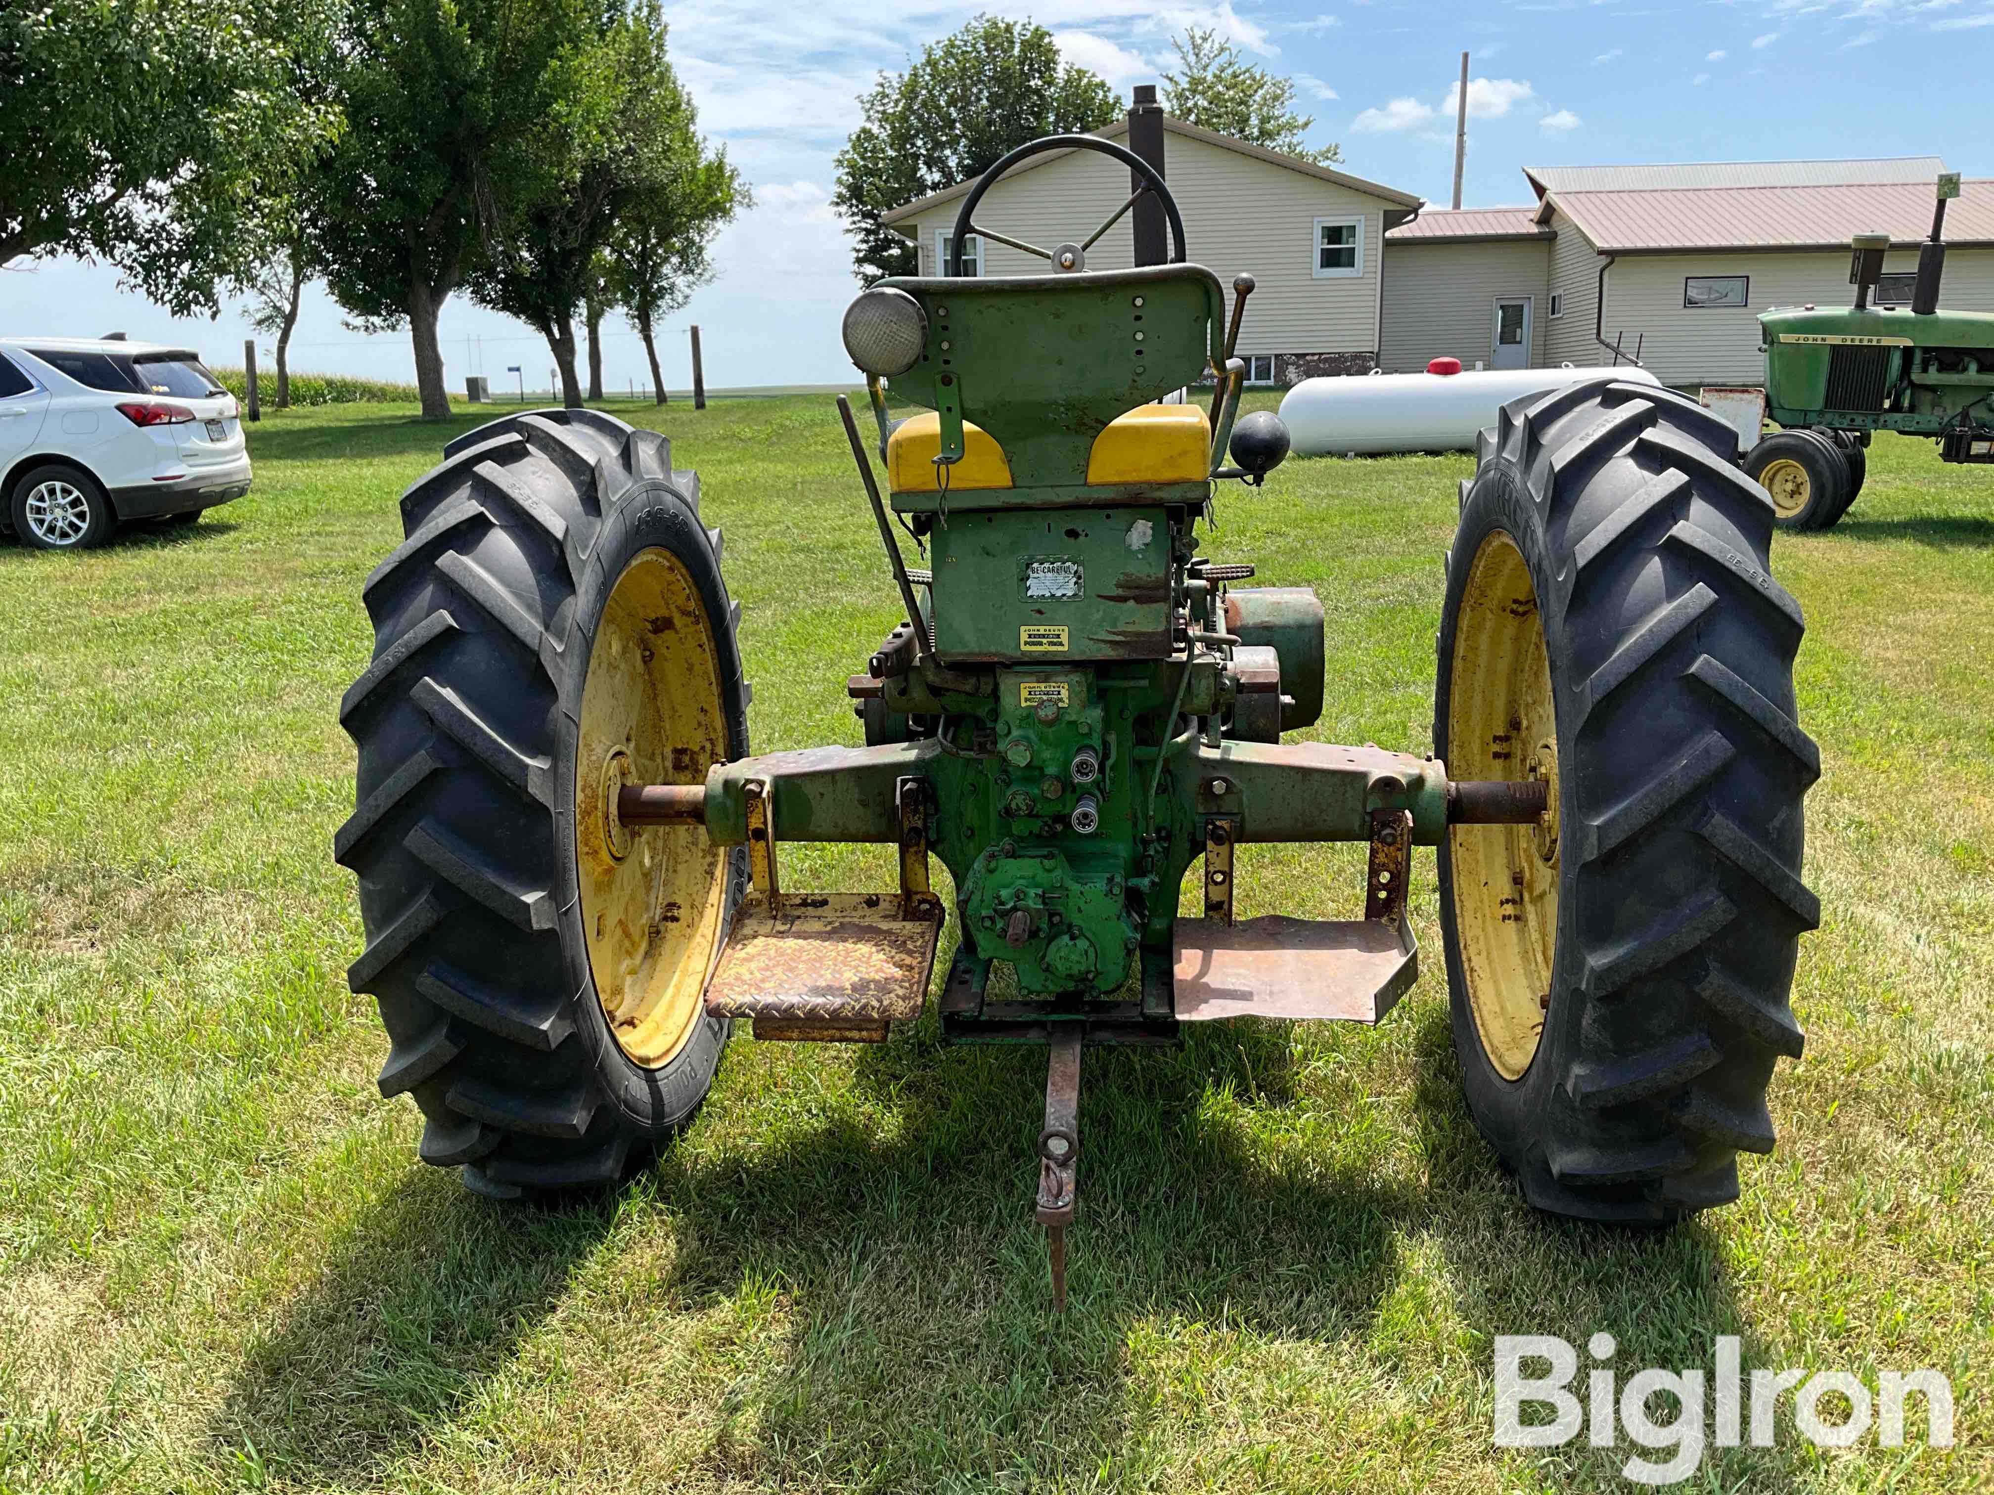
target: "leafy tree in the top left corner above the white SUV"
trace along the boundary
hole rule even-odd
[[[108,259],[175,315],[217,311],[339,128],[299,86],[333,2],[0,6],[0,265]]]

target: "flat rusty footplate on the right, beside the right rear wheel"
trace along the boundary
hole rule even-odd
[[[1178,919],[1174,955],[1178,1023],[1376,1023],[1420,973],[1404,919]]]

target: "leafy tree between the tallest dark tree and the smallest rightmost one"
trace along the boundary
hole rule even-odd
[[[528,185],[514,187],[518,205],[498,213],[487,263],[471,281],[483,305],[546,337],[570,407],[582,403],[574,315],[596,311],[596,261],[618,219],[666,189],[694,140],[692,102],[666,60],[656,0],[614,20],[578,74],[586,86],[542,140],[538,183],[524,175]]]

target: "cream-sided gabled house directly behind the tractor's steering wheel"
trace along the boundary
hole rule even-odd
[[[1248,146],[1164,118],[1164,175],[1184,217],[1188,257],[1230,283],[1258,281],[1238,353],[1254,383],[1368,373],[1380,349],[1386,235],[1420,211],[1420,197],[1328,165]],[[1101,132],[1123,140],[1127,120]],[[921,247],[921,273],[941,275],[949,231],[973,183],[961,181],[885,215]],[[1057,151],[1009,171],[977,203],[991,233],[1027,243],[1081,241],[1129,197],[1129,167],[1099,151]],[[1001,243],[965,245],[971,275],[1037,275],[1045,261]],[[1087,251],[1089,269],[1135,263],[1123,217]]]

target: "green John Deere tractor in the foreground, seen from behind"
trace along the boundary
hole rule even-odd
[[[514,415],[403,496],[341,708],[337,855],[421,1156],[500,1198],[614,1184],[686,1124],[734,1025],[875,1043],[919,1019],[953,907],[939,1033],[1051,1050],[1037,1218],[1063,1282],[1083,1046],[1384,1019],[1436,847],[1468,1100],[1529,1202],[1731,1200],[1735,1154],[1773,1146],[1817,921],[1801,612],[1733,433],[1613,381],[1505,409],[1462,484],[1436,751],[1284,740],[1322,714],[1322,606],[1200,550],[1220,484],[1264,500],[1286,450],[1272,415],[1234,423],[1252,279],[1228,333],[1163,177],[1097,138],[993,165],[955,243],[1013,243],[975,219],[985,189],[1063,150],[1131,167],[1168,263],[1087,269],[1077,237],[1031,247],[1049,275],[893,279],[845,315],[867,435],[839,413],[905,606],[845,686],[863,748],[750,753],[720,530],[662,437]],[[1208,373],[1210,411],[1178,397]],[[891,421],[883,379],[923,413]],[[796,889],[786,841],[897,845],[897,887]],[[1236,907],[1264,841],[1368,845],[1364,917]]]

